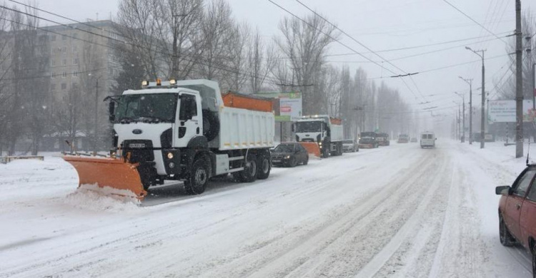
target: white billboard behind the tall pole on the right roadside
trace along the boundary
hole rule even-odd
[[[515,123],[515,101],[490,101],[489,123]],[[534,121],[532,101],[523,100],[523,121]]]

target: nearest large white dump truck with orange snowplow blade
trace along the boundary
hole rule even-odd
[[[271,101],[264,110],[229,107],[218,83],[207,80],[144,81],[141,90],[108,99],[110,158],[64,156],[79,173],[79,186],[112,187],[141,200],[164,180],[183,180],[189,194],[201,194],[211,177],[233,173],[235,180],[253,182],[269,176]],[[251,98],[247,105],[256,101],[263,102]]]

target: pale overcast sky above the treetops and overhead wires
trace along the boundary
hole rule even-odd
[[[295,0],[274,1],[298,16],[310,13]],[[484,24],[487,29],[497,36],[512,34],[515,29],[515,1],[448,1],[464,11],[465,14],[471,16],[475,21]],[[473,49],[487,49],[485,56],[491,58],[485,62],[487,91],[492,90],[493,81],[499,80],[504,75],[507,66],[510,65],[507,51],[505,50],[505,42],[495,38],[495,36],[467,19],[460,11],[452,8],[442,0],[302,0],[302,2],[326,16],[329,21],[337,24],[339,28],[373,51],[384,51],[380,52],[379,55],[387,60],[436,51],[392,61],[395,66],[405,72],[420,72],[412,77],[413,80],[405,78],[413,93],[400,78],[389,78],[388,76],[392,76],[392,73],[374,65],[374,63],[367,62],[358,55],[328,57],[328,60],[334,65],[348,65],[352,71],[359,67],[364,68],[370,78],[378,78],[376,79],[378,83],[385,81],[389,86],[398,88],[408,103],[422,102],[422,94],[425,96],[426,101],[432,101],[432,105],[445,107],[444,113],[453,113],[454,108],[449,108],[455,105],[452,101],[457,101],[457,97],[453,92],[468,91],[467,84],[460,80],[458,76],[474,78],[475,84],[473,88],[480,87],[480,62],[430,71],[480,59],[474,53],[467,51],[465,46],[470,46]],[[97,13],[99,19],[113,19],[117,12],[119,1],[39,0],[37,3],[41,9],[54,11],[81,21],[96,19]],[[277,25],[280,19],[283,16],[289,16],[285,11],[267,0],[229,0],[229,4],[231,4],[237,20],[246,21],[250,26],[258,26],[267,40],[270,40],[272,36],[279,35]],[[524,11],[529,11],[530,14],[534,15],[536,14],[535,8],[536,1],[522,1]],[[41,15],[45,16],[44,14]],[[49,16],[46,15],[46,17]],[[63,19],[60,21],[68,23]],[[475,39],[442,43],[466,38]],[[511,39],[512,37],[502,38],[504,41]],[[482,40],[484,42],[481,42]],[[347,36],[341,36],[340,41],[355,51],[360,53],[367,52],[365,48],[359,46],[358,43]],[[432,43],[442,44],[401,51],[385,51],[393,48],[430,45]],[[450,49],[445,50],[445,48]],[[339,43],[333,43],[329,53],[343,54],[352,53],[352,51],[344,48]],[[381,58],[373,54],[365,55],[374,61],[381,61]],[[499,57],[494,58],[497,56]],[[387,63],[383,64],[388,68],[392,68]],[[401,73],[396,69],[393,69],[393,71]],[[417,84],[418,89],[413,81]],[[477,94],[474,94],[475,98],[480,97]],[[480,103],[480,101],[474,102],[475,106]],[[415,105],[415,108],[423,108],[424,106]],[[443,112],[437,111],[437,113]]]

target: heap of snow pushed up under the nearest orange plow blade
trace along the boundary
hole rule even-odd
[[[98,188],[99,190],[94,190]],[[109,195],[110,187],[99,188],[97,185],[82,185],[75,192],[65,197],[65,203],[80,210],[135,212],[142,208],[139,200],[121,195]],[[124,191],[124,190],[123,190]]]

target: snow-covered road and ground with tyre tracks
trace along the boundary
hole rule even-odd
[[[393,143],[199,196],[162,186],[142,205],[76,190],[61,158],[0,165],[0,277],[531,277],[527,254],[500,245],[495,195],[525,160],[502,143],[437,147]]]

